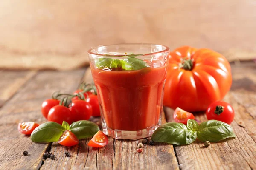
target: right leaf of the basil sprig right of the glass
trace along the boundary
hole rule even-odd
[[[217,142],[226,138],[236,137],[230,125],[217,120],[208,120],[201,123],[197,135],[202,142]]]

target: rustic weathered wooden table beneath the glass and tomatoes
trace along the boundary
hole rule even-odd
[[[46,122],[41,103],[54,91],[73,92],[81,80],[91,81],[90,69],[75,71],[0,71],[0,170],[10,169],[256,169],[256,64],[232,64],[233,85],[224,100],[230,102],[236,116],[232,122],[236,139],[227,139],[204,147],[196,140],[185,146],[146,145],[137,153],[139,141],[109,137],[107,147],[93,149],[84,139],[74,147],[53,143],[32,143],[17,131],[18,122]],[[165,108],[167,122],[172,110]],[[196,119],[205,121],[204,113]],[[93,119],[93,121],[98,121]],[[165,119],[163,120],[165,122]],[[29,156],[23,156],[27,150]],[[69,151],[72,157],[64,156]],[[43,159],[52,152],[56,160]]]

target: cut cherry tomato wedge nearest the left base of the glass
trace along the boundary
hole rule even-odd
[[[102,132],[98,131],[88,143],[91,147],[104,147],[108,144],[108,137]]]

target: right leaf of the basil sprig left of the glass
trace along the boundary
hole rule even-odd
[[[79,120],[70,125],[70,131],[74,133],[78,139],[88,138],[99,131],[99,126],[87,120]]]

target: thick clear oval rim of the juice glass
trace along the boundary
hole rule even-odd
[[[98,47],[94,47],[91,48],[90,50],[88,50],[88,54],[92,54],[92,55],[97,55],[97,56],[103,56],[103,57],[126,57],[129,55],[109,55],[109,54],[98,54],[98,53],[94,53],[92,52],[92,50],[98,49],[98,48],[104,48],[104,47],[108,47],[108,46],[112,46],[112,45],[155,45],[155,46],[162,46],[165,47],[166,49],[162,50],[162,51],[158,51],[158,52],[153,52],[153,53],[145,53],[145,54],[136,54],[136,55],[154,55],[154,54],[161,54],[161,53],[165,53],[168,52],[170,50],[169,47],[165,46],[165,45],[160,45],[160,44],[151,44],[151,43],[122,43],[122,44],[110,44],[110,45],[102,45],[102,46],[98,46]]]

